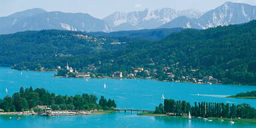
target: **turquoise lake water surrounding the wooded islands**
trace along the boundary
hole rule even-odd
[[[227,95],[256,90],[255,86],[244,85],[197,85],[191,83],[171,83],[145,79],[68,79],[55,78],[51,72],[16,71],[0,68],[0,98],[8,89],[8,94],[19,91],[20,87],[43,87],[61,95],[89,93],[115,99],[117,108],[154,110],[163,103],[161,95],[167,99],[195,101],[249,103],[256,107],[253,99],[230,99]],[[106,83],[106,89],[103,84]],[[197,93],[200,95],[198,96]],[[203,119],[185,119],[181,117],[142,117],[135,113],[113,113],[107,115],[89,115],[76,117],[37,117],[26,116],[15,120],[15,116],[0,116],[0,127],[256,127],[252,123],[228,121],[204,121]]]

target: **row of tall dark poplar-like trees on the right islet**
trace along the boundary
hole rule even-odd
[[[243,118],[255,119],[256,109],[247,104],[234,105],[224,103],[195,102],[191,106],[186,101],[175,101],[165,99],[164,105],[160,104],[155,108],[155,113],[170,113],[172,115],[187,115],[191,112],[195,117],[223,117],[223,118]]]

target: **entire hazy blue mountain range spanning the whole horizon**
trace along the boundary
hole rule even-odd
[[[127,31],[155,28],[207,29],[219,25],[246,23],[256,19],[256,6],[227,2],[202,13],[195,9],[177,11],[163,8],[155,11],[115,12],[103,19],[87,13],[47,12],[43,9],[29,9],[0,17],[0,34],[17,31],[61,29],[69,31]]]

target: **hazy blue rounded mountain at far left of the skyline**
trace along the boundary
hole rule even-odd
[[[109,31],[105,21],[85,13],[47,12],[43,9],[29,9],[7,17],[0,17],[1,34],[42,29]]]

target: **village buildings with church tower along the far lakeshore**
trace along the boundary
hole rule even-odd
[[[163,81],[172,81],[172,82],[183,82],[181,80],[174,80],[175,74],[172,72],[168,72],[169,67],[164,67],[164,74],[167,75],[168,79]],[[131,73],[123,73],[122,71],[115,71],[111,75],[100,75],[93,71],[96,70],[96,67],[93,65],[89,65],[87,67],[87,72],[78,72],[76,69],[67,65],[64,69],[61,66],[57,66],[58,73],[55,74],[56,77],[75,77],[75,78],[113,78],[113,79],[153,79],[153,75],[157,75],[157,69],[153,69],[149,71],[149,69],[144,69],[143,67],[138,67],[133,69]],[[60,73],[64,71],[63,73]],[[193,71],[198,71],[198,69],[194,69]],[[202,79],[196,79],[189,76],[182,76],[182,79],[189,83],[199,83],[199,84],[218,84],[218,79],[213,78],[212,76],[205,76]]]

